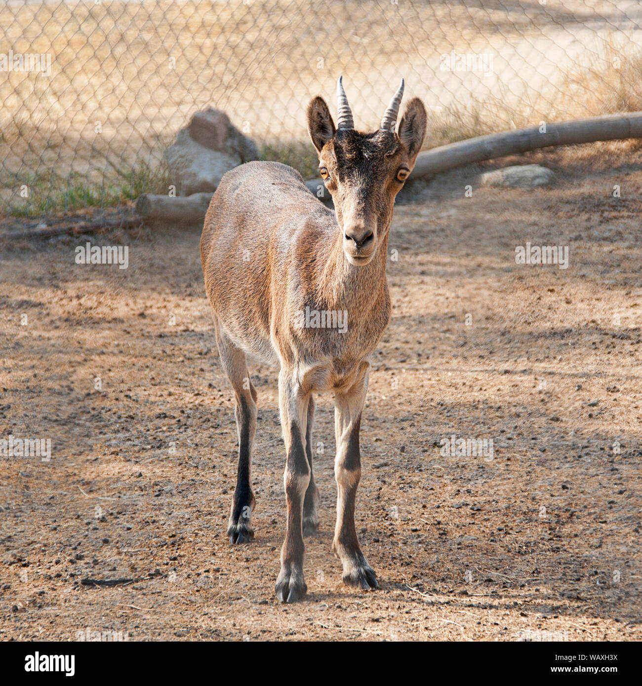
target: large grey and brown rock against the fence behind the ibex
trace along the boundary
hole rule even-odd
[[[212,108],[196,113],[165,150],[170,182],[179,196],[213,193],[226,171],[258,158],[255,143]]]

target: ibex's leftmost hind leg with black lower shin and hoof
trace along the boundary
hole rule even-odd
[[[238,348],[216,321],[216,344],[223,370],[236,400],[238,433],[238,474],[227,525],[229,542],[248,543],[254,538],[251,514],[256,501],[251,486],[252,447],[256,432],[256,390],[250,381],[245,353]]]

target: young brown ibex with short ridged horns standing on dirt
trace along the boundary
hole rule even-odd
[[[310,102],[308,132],[334,211],[308,191],[291,167],[250,162],[225,174],[205,217],[200,259],[220,361],[236,398],[239,450],[227,529],[231,543],[251,541],[254,535],[250,475],[257,395],[245,355],[280,367],[288,504],[276,584],[282,602],[294,602],[307,591],[303,536],[319,525],[312,394],[321,391],[334,392],[338,496],[332,549],[343,563],[346,584],[378,587],[359,547],[354,501],[369,358],[390,319],[386,261],[393,204],[426,132],[426,110],[417,98],[395,132],[403,89],[402,81],[374,133],[355,130],[341,78],[336,127],[323,98]],[[327,326],[316,326],[313,317],[312,327],[306,327],[315,311]],[[337,312],[347,325],[332,328]]]

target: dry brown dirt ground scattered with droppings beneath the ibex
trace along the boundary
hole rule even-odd
[[[236,429],[198,228],[4,245],[0,437],[52,447],[0,460],[1,639],[641,639],[642,165],[597,158],[550,190],[469,168],[400,199],[356,515],[381,589],[344,587],[330,552],[320,397],[321,528],[293,606],[273,594],[284,449],[261,366],[256,537],[225,535]],[[128,245],[128,269],[76,265],[86,240]],[[516,264],[527,241],[570,246],[569,268]],[[452,435],[492,438],[492,458],[442,456]]]

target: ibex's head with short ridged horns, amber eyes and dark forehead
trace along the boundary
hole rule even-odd
[[[319,171],[332,193],[343,252],[354,265],[365,265],[374,257],[389,230],[395,196],[424,142],[426,108],[419,98],[406,106],[395,131],[403,92],[402,80],[374,133],[354,129],[341,77],[336,84],[336,126],[322,97],[308,106],[308,132],[319,152]]]

